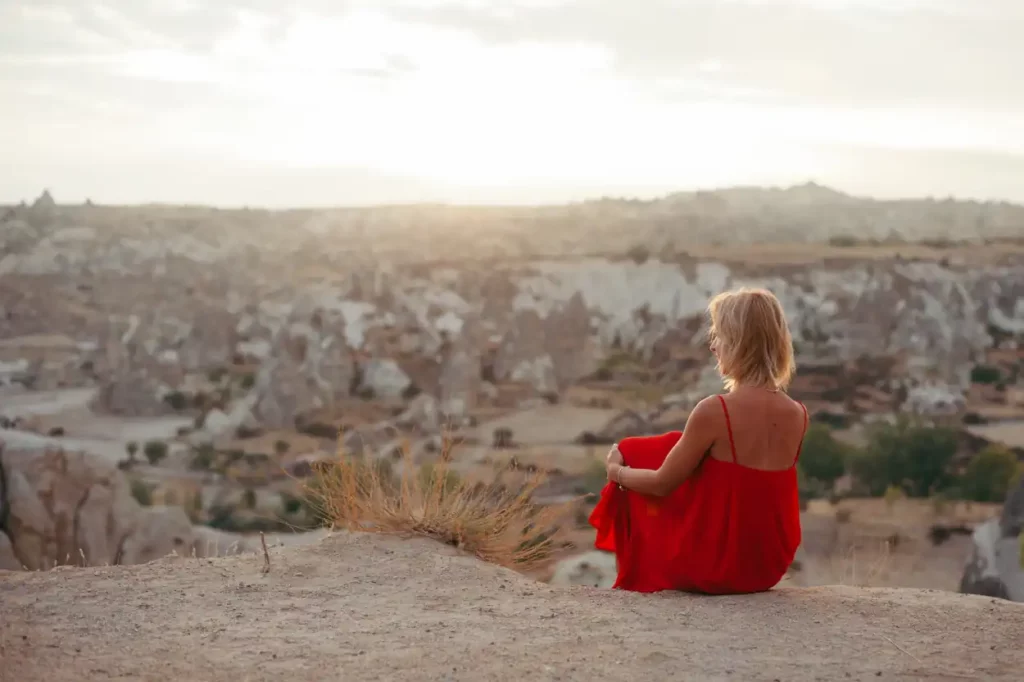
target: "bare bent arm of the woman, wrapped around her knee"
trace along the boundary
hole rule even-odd
[[[665,462],[657,469],[633,469],[617,462],[608,464],[608,479],[642,495],[665,497],[679,487],[700,464],[708,449],[715,442],[721,409],[714,397],[705,398],[693,408],[686,428]]]

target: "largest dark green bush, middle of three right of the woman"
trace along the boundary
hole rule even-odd
[[[876,426],[867,446],[851,459],[851,470],[878,497],[891,485],[915,498],[945,489],[953,476],[949,465],[956,454],[950,429],[913,424],[905,419]]]

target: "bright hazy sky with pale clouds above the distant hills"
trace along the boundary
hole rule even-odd
[[[0,0],[0,202],[1024,202],[1021,0]]]

